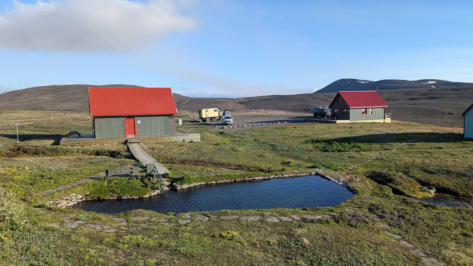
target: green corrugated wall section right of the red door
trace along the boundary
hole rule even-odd
[[[174,135],[174,115],[137,116],[136,136]]]

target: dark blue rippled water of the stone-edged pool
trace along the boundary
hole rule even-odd
[[[319,176],[218,183],[168,190],[143,199],[91,200],[74,205],[84,211],[120,213],[135,209],[158,213],[334,206],[353,196],[347,188]]]

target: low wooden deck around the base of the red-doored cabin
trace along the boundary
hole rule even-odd
[[[162,136],[146,136],[146,137],[128,137],[128,138],[108,138],[108,139],[96,139],[94,134],[82,134],[79,138],[78,135],[70,136],[69,138],[63,137],[59,142],[59,145],[65,146],[87,146],[96,144],[107,144],[120,142],[200,142],[201,135],[197,133],[184,134],[176,132],[175,135],[162,135]]]

